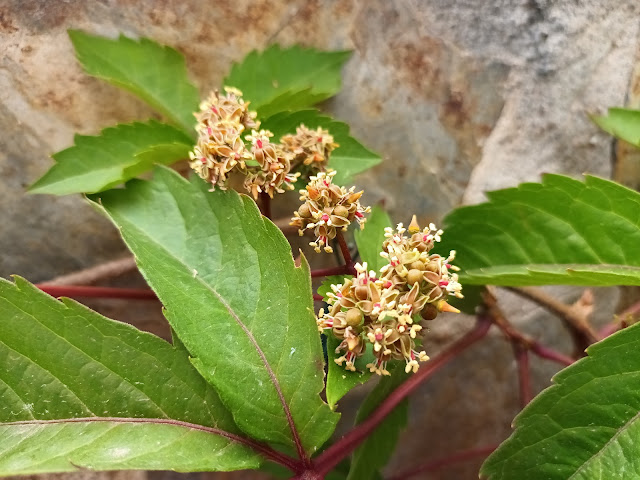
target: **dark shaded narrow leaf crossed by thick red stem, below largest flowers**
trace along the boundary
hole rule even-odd
[[[367,396],[356,415],[356,424],[366,420],[373,411],[407,379],[404,365],[395,365],[390,377],[382,377],[373,391]],[[403,400],[378,427],[353,452],[351,470],[347,480],[372,478],[384,467],[398,442],[400,432],[407,426],[409,402]]]

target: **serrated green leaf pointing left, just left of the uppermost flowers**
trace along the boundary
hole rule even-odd
[[[107,190],[151,170],[154,163],[187,158],[191,148],[184,133],[154,120],[105,128],[98,136],[76,135],[75,145],[54,153],[55,165],[29,191],[68,195]]]

